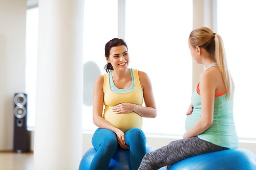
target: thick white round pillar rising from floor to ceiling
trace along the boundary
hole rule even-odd
[[[34,169],[82,156],[83,0],[39,0]]]

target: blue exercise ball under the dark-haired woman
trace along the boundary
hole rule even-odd
[[[155,151],[154,147],[150,145],[146,145],[146,153]],[[88,170],[94,155],[96,154],[97,150],[94,148],[89,149],[82,157],[79,165],[79,170]],[[110,165],[108,170],[130,170],[132,169],[130,163],[130,151],[122,149],[120,147],[117,148],[114,156],[110,161]],[[160,168],[161,170],[166,170],[165,167]]]

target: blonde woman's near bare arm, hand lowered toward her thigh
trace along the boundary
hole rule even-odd
[[[200,75],[200,95],[201,95],[201,117],[197,120],[195,125],[191,127],[183,138],[197,136],[207,130],[214,119],[214,100],[216,90],[216,80],[214,72],[205,71]]]

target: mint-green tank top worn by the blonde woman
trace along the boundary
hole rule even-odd
[[[217,64],[210,65],[218,66]],[[185,128],[188,131],[201,117],[201,96],[198,88],[191,96],[191,103],[194,106],[192,114],[186,118]],[[214,121],[212,125],[203,133],[198,135],[202,140],[206,140],[220,147],[237,149],[239,147],[236,127],[233,119],[233,99],[227,100],[227,93],[215,95]]]

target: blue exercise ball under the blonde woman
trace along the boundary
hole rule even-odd
[[[246,149],[231,149],[181,160],[168,170],[253,170],[256,155]]]

